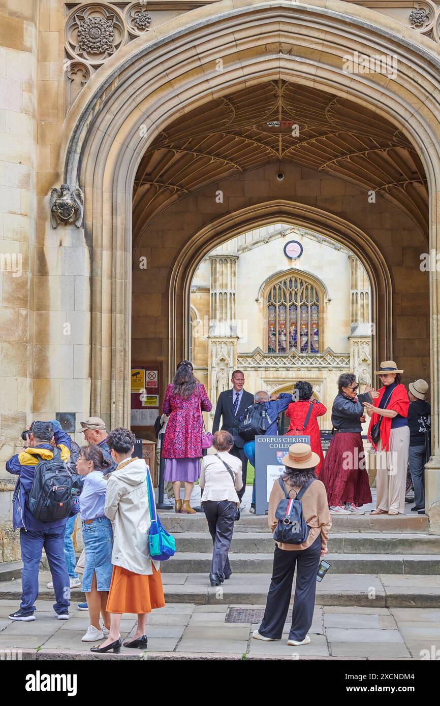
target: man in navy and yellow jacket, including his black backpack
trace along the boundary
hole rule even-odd
[[[6,462],[6,470],[18,475],[13,493],[13,529],[20,530],[23,593],[13,621],[35,620],[38,573],[42,550],[46,552],[54,582],[54,611],[59,620],[69,619],[69,573],[64,558],[64,531],[72,511],[73,479],[66,466],[71,439],[50,421],[34,421],[30,445]],[[55,445],[51,444],[54,438]]]

